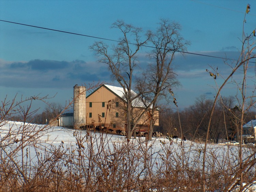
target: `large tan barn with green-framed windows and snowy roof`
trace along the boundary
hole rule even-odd
[[[136,94],[132,91],[132,94]],[[125,130],[125,107],[124,91],[121,87],[102,85],[86,97],[86,122],[88,124],[101,125],[113,130]],[[145,110],[145,105],[137,99],[133,102],[133,118],[136,119]],[[142,116],[136,129],[145,131],[149,126],[149,113]],[[154,125],[159,125],[158,111],[153,116]]]

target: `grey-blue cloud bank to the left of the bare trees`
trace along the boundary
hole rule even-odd
[[[55,61],[34,59],[28,62],[0,63],[1,85],[15,88],[69,88],[75,84],[106,81],[105,65],[83,60]]]

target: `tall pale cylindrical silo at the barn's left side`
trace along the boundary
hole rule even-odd
[[[86,88],[74,86],[74,128],[79,129],[86,124]]]

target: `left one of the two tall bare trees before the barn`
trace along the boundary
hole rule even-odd
[[[112,24],[112,28],[119,29],[123,34],[118,41],[118,45],[112,46],[110,49],[103,42],[95,42],[90,49],[93,50],[98,56],[100,56],[99,62],[108,65],[111,71],[113,80],[116,80],[124,91],[124,98],[126,102],[126,137],[131,138],[131,133],[136,127],[139,119],[132,125],[132,103],[133,100],[139,98],[140,95],[132,96],[132,85],[133,85],[133,71],[138,67],[138,60],[136,55],[140,50],[141,46],[145,45],[151,33],[145,34],[145,39],[141,40],[140,34],[142,30],[136,28],[131,24],[126,24],[122,20],[117,20]],[[134,42],[130,39],[134,38]],[[132,125],[132,126],[131,126]]]

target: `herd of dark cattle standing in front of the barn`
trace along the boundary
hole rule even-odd
[[[81,128],[82,130],[87,130],[87,129],[92,130],[92,129],[94,129],[94,128],[93,128],[92,126],[90,126],[90,125],[81,126],[80,128]],[[96,130],[97,132],[102,131],[102,132],[107,132],[107,133],[115,133],[113,129],[108,129],[107,127],[99,126],[99,125],[97,125],[97,126],[95,127],[95,130]],[[120,129],[117,129],[117,130],[116,130],[116,134],[117,134],[117,135],[126,136],[126,132],[123,131],[123,130],[120,130]],[[147,135],[148,135],[148,132],[136,132],[136,136],[137,136],[137,137],[147,137]],[[152,137],[157,137],[157,138],[163,137],[163,133],[161,133],[161,132],[153,132],[153,133],[152,133]],[[176,137],[177,137],[177,136],[173,136],[173,138],[176,138]]]

